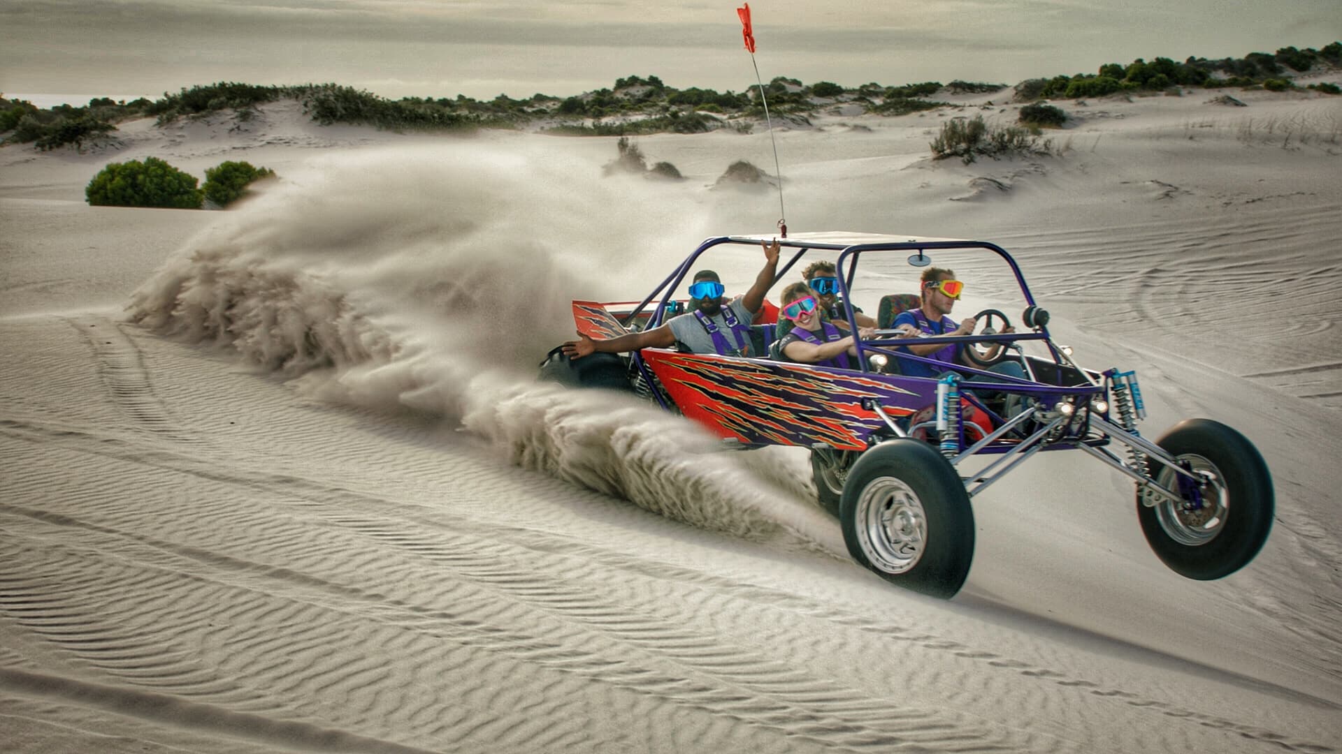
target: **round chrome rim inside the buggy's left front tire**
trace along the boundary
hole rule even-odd
[[[856,506],[858,541],[871,565],[884,573],[907,573],[927,542],[927,513],[909,484],[883,476],[862,491]]]

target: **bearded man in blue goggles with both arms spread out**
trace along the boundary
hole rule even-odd
[[[691,353],[717,353],[722,356],[764,356],[752,353],[750,323],[754,313],[764,306],[764,295],[778,268],[778,240],[772,244],[760,241],[764,247],[765,263],[756,275],[754,283],[743,297],[725,301],[721,278],[713,270],[699,270],[690,283],[692,309],[662,323],[659,327],[628,333],[604,341],[578,333],[578,339],[568,341],[561,347],[569,358],[582,358],[590,353],[624,353],[646,347],[671,347],[683,343]]]

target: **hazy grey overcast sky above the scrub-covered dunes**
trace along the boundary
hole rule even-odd
[[[0,93],[161,97],[232,80],[389,98],[569,97],[628,75],[742,91],[1013,85],[1135,58],[1243,58],[1342,39],[1342,0],[0,0]]]

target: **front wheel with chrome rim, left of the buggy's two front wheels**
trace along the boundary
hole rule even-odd
[[[949,600],[974,559],[974,513],[956,467],[909,437],[862,453],[839,521],[848,553],[882,578]]]

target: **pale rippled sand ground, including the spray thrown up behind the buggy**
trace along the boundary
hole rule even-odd
[[[1216,419],[1272,470],[1263,553],[1193,582],[1129,482],[1033,459],[950,602],[845,557],[804,452],[531,382],[570,298],[770,232],[776,195],[709,188],[774,172],[762,133],[640,138],[680,184],[293,106],[0,149],[0,750],[1342,749],[1342,98],[1232,94],[1063,103],[1062,156],[973,165],[927,142],[1001,94],[777,134],[793,231],[997,241],[1147,435]],[[83,203],[145,156],[280,178]]]

